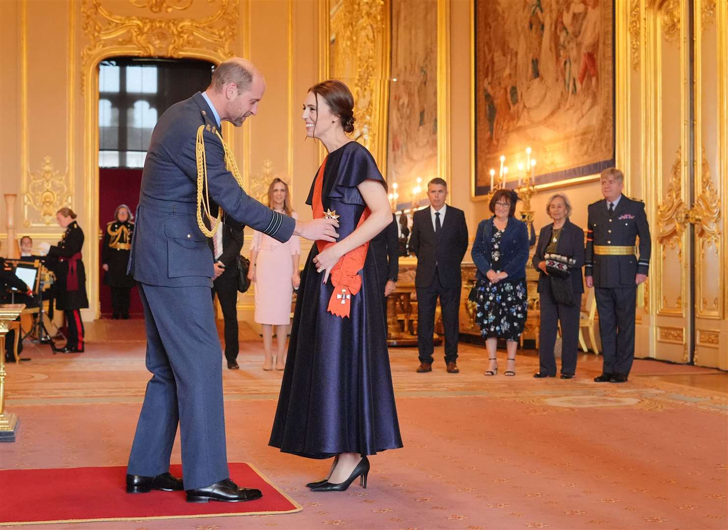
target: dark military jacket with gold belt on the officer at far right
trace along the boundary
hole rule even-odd
[[[626,255],[609,255],[609,248],[634,248],[639,236],[639,258],[634,251]],[[609,216],[606,199],[589,205],[587,220],[587,248],[584,275],[592,276],[594,287],[636,287],[636,274],[649,272],[649,255],[652,242],[649,236],[644,202],[628,199],[624,195]]]

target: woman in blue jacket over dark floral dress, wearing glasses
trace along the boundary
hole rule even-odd
[[[498,373],[498,339],[506,339],[505,375],[515,376],[515,351],[528,314],[529,230],[514,217],[517,201],[513,190],[496,191],[489,205],[495,215],[480,221],[472,244],[472,261],[478,267],[476,320],[488,348],[486,376]]]

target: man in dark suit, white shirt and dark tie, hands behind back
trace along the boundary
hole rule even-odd
[[[467,250],[465,213],[448,206],[448,185],[442,178],[427,183],[430,207],[414,213],[409,248],[417,256],[417,347],[419,373],[432,371],[432,333],[435,309],[440,309],[445,328],[445,363],[448,373],[458,373],[457,343],[462,277],[460,264]]]

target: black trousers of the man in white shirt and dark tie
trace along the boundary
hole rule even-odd
[[[460,285],[443,287],[435,269],[435,277],[428,287],[417,289],[417,347],[420,363],[432,363],[432,333],[435,332],[435,309],[440,297],[440,309],[445,328],[445,362],[457,360],[457,343],[460,338]]]

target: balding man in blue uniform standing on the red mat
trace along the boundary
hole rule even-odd
[[[261,497],[259,490],[229,479],[220,343],[210,296],[213,256],[199,205],[210,197],[224,210],[224,222],[248,225],[279,241],[291,234],[334,241],[338,226],[331,219],[296,221],[251,199],[240,186],[219,135],[221,120],[240,127],[257,113],[264,91],[264,78],[252,63],[227,60],[205,92],[167,109],[151,135],[129,271],[144,307],[146,366],[153,376],[129,457],[128,493],[186,489],[188,502]],[[169,473],[178,424],[183,480]]]

